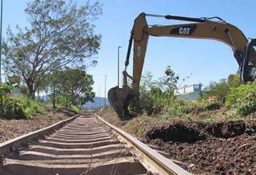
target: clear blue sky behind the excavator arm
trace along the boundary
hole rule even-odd
[[[78,0],[82,3],[83,0]],[[14,28],[16,24],[27,26],[24,13],[25,0],[4,0],[3,36],[6,28]],[[170,14],[174,16],[211,17],[220,16],[228,23],[240,28],[249,38],[256,38],[255,16],[256,1],[203,1],[203,0],[102,0],[103,14],[96,22],[96,32],[102,34],[102,45],[97,55],[97,67],[88,72],[95,79],[94,91],[98,96],[99,86],[101,96],[104,96],[104,80],[107,75],[107,90],[117,85],[117,47],[120,50],[121,70],[124,69],[124,60],[127,53],[129,33],[133,21],[141,13]],[[164,18],[148,18],[149,24],[174,24],[182,21],[166,21]],[[130,58],[132,60],[132,57]],[[195,40],[181,38],[149,38],[146,52],[144,72],[150,71],[154,79],[163,76],[164,69],[170,65],[180,76],[191,78],[185,84],[204,85],[210,81],[228,77],[235,73],[238,64],[233,52],[223,43],[214,40]],[[132,74],[132,61],[129,73]],[[122,77],[120,77],[122,79]]]

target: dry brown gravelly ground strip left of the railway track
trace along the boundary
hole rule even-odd
[[[0,143],[53,125],[73,115],[75,115],[73,111],[61,108],[57,111],[48,110],[45,114],[35,115],[32,120],[5,120],[0,118]]]

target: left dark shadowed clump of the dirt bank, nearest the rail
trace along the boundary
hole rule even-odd
[[[147,140],[161,139],[164,142],[196,142],[204,140],[205,135],[191,124],[178,121],[161,128],[151,128],[146,132],[146,138]]]

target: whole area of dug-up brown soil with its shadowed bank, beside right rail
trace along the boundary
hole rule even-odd
[[[168,152],[193,174],[256,174],[256,120],[180,120],[150,128],[143,140]]]

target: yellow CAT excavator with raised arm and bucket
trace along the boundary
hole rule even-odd
[[[146,16],[166,18],[167,20],[190,21],[171,26],[148,25]],[[241,30],[226,23],[222,18],[189,18],[183,16],[161,16],[140,13],[134,20],[134,26],[129,39],[127,58],[125,61],[124,84],[108,91],[111,106],[119,117],[129,115],[128,106],[130,99],[139,91],[139,81],[142,77],[146,46],[151,36],[166,36],[178,38],[200,38],[223,42],[231,47],[235,60],[240,67],[240,81],[245,83],[253,81],[256,77],[256,39],[247,40]],[[129,55],[134,46],[133,75],[127,73]],[[127,84],[127,78],[132,79],[132,86]]]

